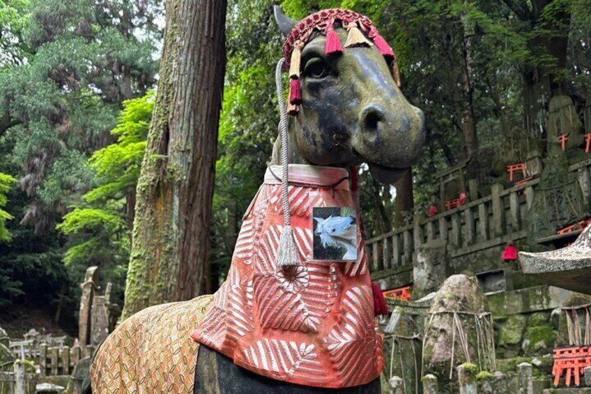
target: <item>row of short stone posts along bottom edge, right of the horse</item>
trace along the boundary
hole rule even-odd
[[[511,391],[509,379],[502,372],[478,372],[474,364],[463,363],[456,368],[457,392],[459,394],[495,394],[495,393],[522,393],[534,394],[534,380],[532,377],[532,365],[521,363],[517,366],[517,391]],[[434,374],[427,374],[422,379],[423,394],[440,394],[438,379]],[[404,394],[404,380],[394,376],[390,379],[392,394]],[[513,388],[514,390],[515,388]]]

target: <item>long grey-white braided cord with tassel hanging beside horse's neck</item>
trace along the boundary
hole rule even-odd
[[[281,238],[279,238],[279,248],[277,249],[277,267],[291,267],[300,264],[300,257],[298,256],[298,248],[296,241],[293,239],[293,229],[291,229],[291,215],[289,210],[289,163],[288,163],[288,149],[289,134],[287,125],[287,112],[285,106],[285,99],[283,97],[283,82],[281,77],[281,70],[285,60],[279,59],[277,68],[275,68],[275,85],[277,86],[277,102],[279,103],[279,133],[281,136],[281,198],[283,204],[283,230]]]

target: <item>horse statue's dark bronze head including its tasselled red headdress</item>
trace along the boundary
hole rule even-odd
[[[419,158],[424,115],[397,86],[394,54],[371,21],[324,10],[296,23],[279,6],[275,20],[286,37],[291,77],[289,162],[366,162],[376,180],[396,181]],[[277,139],[272,164],[280,162],[280,144]]]

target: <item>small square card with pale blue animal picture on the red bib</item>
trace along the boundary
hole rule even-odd
[[[357,215],[350,206],[312,208],[314,260],[357,260]]]

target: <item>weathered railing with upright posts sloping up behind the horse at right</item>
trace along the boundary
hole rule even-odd
[[[591,159],[570,167],[578,176],[586,202],[591,192],[590,169]],[[505,190],[495,184],[489,196],[431,218],[415,215],[413,225],[368,239],[365,246],[372,271],[412,264],[413,254],[429,241],[443,241],[451,257],[458,257],[525,238],[528,209],[538,183],[539,178]]]

